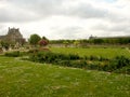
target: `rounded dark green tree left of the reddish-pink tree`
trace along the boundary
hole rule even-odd
[[[40,40],[41,40],[40,36],[35,33],[30,36],[29,43],[36,46]]]

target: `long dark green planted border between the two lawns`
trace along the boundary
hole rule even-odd
[[[109,72],[115,72],[118,69],[130,66],[130,59],[125,56],[118,56],[113,59],[107,59],[98,56],[80,57],[76,54],[66,55],[62,53],[52,52],[38,52],[31,54],[29,60],[37,63],[49,63],[64,67],[103,70]],[[129,73],[129,70],[127,73]]]

